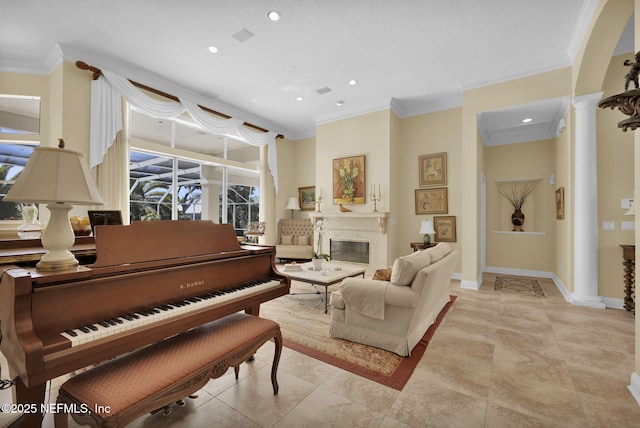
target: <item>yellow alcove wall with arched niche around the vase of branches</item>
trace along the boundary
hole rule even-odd
[[[486,147],[487,266],[552,272],[555,268],[555,139]],[[514,182],[520,181],[520,182]],[[525,201],[524,233],[512,232],[513,206],[500,195],[523,182],[535,185]],[[535,232],[535,234],[530,234]]]

